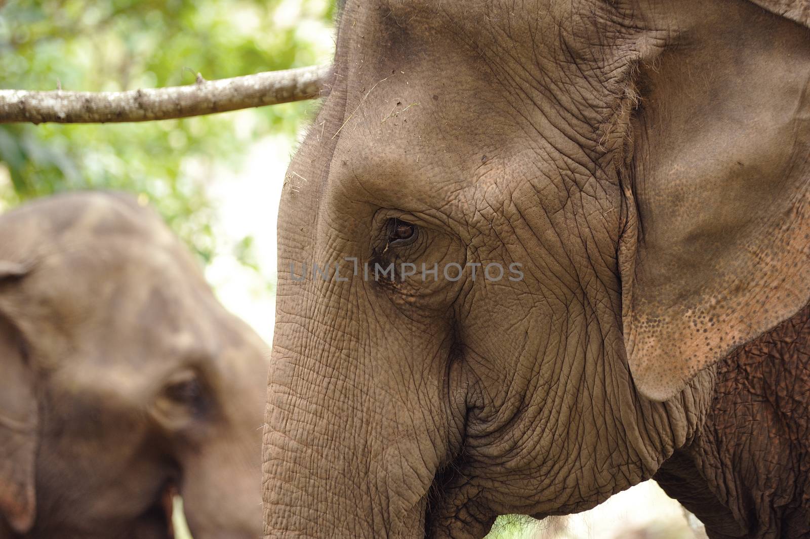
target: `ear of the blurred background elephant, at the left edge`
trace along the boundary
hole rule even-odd
[[[17,533],[34,521],[37,402],[22,335],[4,313],[3,296],[23,278],[21,265],[0,261],[0,519]]]

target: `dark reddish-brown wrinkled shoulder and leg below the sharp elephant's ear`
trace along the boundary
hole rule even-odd
[[[655,480],[710,537],[810,537],[808,388],[805,307],[718,364],[705,424]]]

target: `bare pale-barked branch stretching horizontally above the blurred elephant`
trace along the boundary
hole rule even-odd
[[[322,95],[330,72],[330,66],[301,67],[132,91],[0,90],[0,123],[168,120],[309,100]]]

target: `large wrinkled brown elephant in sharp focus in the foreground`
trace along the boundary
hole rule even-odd
[[[346,0],[279,209],[264,537],[650,478],[810,537],[810,6]]]

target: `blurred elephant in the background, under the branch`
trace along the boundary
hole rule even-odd
[[[0,537],[262,533],[270,349],[156,212],[68,193],[0,217]]]

